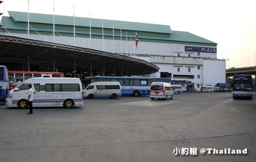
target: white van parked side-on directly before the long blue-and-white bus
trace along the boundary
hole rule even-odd
[[[84,90],[84,98],[118,98],[121,97],[121,88],[118,81],[93,82]]]

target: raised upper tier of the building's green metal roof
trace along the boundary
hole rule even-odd
[[[13,20],[20,22],[27,22],[27,12],[15,12],[8,11]],[[29,13],[29,22],[32,23],[53,23],[52,14],[36,14]],[[76,26],[90,26],[90,18],[87,17],[75,17]],[[146,31],[146,32],[158,32],[158,33],[172,33],[170,26],[158,25],[151,23],[135,23],[128,21],[117,21],[117,20],[105,20],[104,28],[113,29],[125,29],[134,31]],[[73,26],[73,16],[61,16],[55,15],[55,24]],[[102,28],[102,19],[91,18],[91,27]]]

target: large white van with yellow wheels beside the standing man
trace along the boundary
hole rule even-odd
[[[26,108],[29,84],[34,91],[33,107],[70,108],[84,104],[79,78],[31,78],[9,91],[6,106]]]

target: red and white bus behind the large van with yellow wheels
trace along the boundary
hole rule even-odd
[[[63,72],[27,72],[27,71],[8,71],[9,90],[14,89],[18,84],[30,78],[64,78]]]

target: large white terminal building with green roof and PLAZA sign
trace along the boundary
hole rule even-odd
[[[28,35],[27,13],[8,13],[9,16],[3,16],[1,20],[1,35],[23,38],[25,42],[31,40],[51,44],[52,48],[41,49],[36,54],[44,56],[45,59],[49,55],[56,62],[52,67],[51,61],[40,63],[32,59],[29,62],[29,58],[15,58],[17,60],[13,64],[11,56],[6,53],[3,55],[7,47],[12,49],[15,46],[9,43],[1,45],[0,64],[11,70],[58,70],[69,74],[70,69],[73,69],[84,76],[150,75],[156,78],[186,80],[193,83],[197,90],[203,85],[214,87],[217,83],[226,82],[226,64],[225,60],[217,58],[217,43],[189,32],[173,31],[168,25],[55,15],[53,26],[53,15],[29,13]],[[136,33],[139,38],[137,48]],[[72,52],[74,55],[64,59],[61,52],[67,51],[54,48],[61,45],[93,52],[86,57],[84,55],[84,58],[83,54],[79,55],[79,51]],[[22,51],[12,52],[14,56],[15,52],[18,55]],[[105,53],[105,56],[111,55],[115,59],[93,53]],[[75,57],[78,57],[77,61],[73,60]],[[106,61],[108,58],[110,60]],[[58,59],[62,59],[59,64]],[[79,60],[80,63],[76,64]],[[94,66],[91,66],[92,60]],[[72,64],[76,64],[76,69]]]

